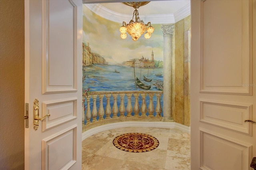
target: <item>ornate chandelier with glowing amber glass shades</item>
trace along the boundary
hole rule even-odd
[[[140,20],[139,12],[137,8],[140,6],[148,4],[150,1],[146,2],[122,2],[123,4],[126,4],[128,6],[132,6],[135,10],[133,12],[132,20],[130,20],[129,24],[126,24],[126,22],[123,22],[123,25],[120,27],[121,35],[120,37],[122,39],[126,39],[127,34],[130,34],[132,36],[133,41],[137,41],[142,34],[147,30],[147,33],[144,34],[144,37],[146,39],[151,37],[151,34],[154,32],[154,28],[151,26],[151,23],[148,22],[148,24],[145,24],[143,20]],[[134,21],[135,18],[135,21]],[[148,26],[148,28],[147,28]]]

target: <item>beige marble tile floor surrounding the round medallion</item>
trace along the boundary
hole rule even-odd
[[[116,148],[112,141],[124,133],[154,136],[159,146],[134,153]],[[190,133],[175,128],[126,127],[106,130],[82,142],[83,170],[190,170]]]

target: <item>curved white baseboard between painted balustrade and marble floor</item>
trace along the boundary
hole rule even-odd
[[[95,128],[91,128],[82,133],[82,141],[86,138],[105,130],[110,130],[114,128],[124,128],[124,127],[154,127],[154,128],[177,128],[179,130],[184,130],[190,133],[190,127],[176,123],[176,122],[139,122],[139,121],[129,121],[129,122],[118,122],[110,123],[106,125],[101,125]]]

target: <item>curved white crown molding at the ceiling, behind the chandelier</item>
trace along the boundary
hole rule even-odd
[[[132,19],[132,15],[120,14],[109,10],[108,8],[100,4],[84,4],[89,10],[95,14],[106,18],[110,21],[122,23],[125,21],[129,23]],[[184,6],[174,14],[156,14],[156,15],[140,15],[140,20],[143,20],[145,24],[151,22],[151,24],[173,24],[190,15],[190,4]]]

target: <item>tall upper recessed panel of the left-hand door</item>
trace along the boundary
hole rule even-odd
[[[74,2],[45,0],[43,24],[43,93],[77,89],[77,8]],[[65,58],[65,59],[63,59]],[[60,79],[57,77],[62,76]]]

